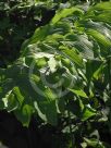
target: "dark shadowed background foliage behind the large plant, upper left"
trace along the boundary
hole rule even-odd
[[[0,1],[0,65],[5,66],[18,58],[22,42],[50,21],[54,10],[48,7],[44,2]]]

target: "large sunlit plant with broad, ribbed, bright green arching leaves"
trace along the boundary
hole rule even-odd
[[[72,139],[64,147],[111,147],[100,137],[111,130],[110,13],[111,2],[59,9],[0,69],[0,109],[24,126],[32,114],[59,126]]]

